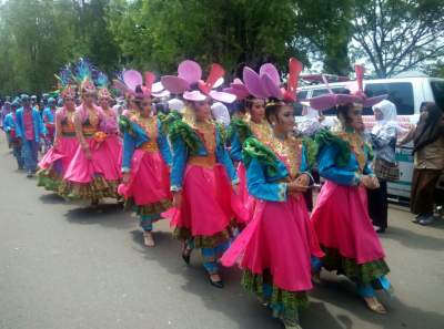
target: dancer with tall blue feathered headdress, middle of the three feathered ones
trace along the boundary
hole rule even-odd
[[[97,206],[104,197],[118,198],[121,173],[115,157],[103,143],[107,134],[100,130],[103,113],[94,104],[95,85],[91,65],[81,59],[75,68],[82,103],[75,109],[74,126],[79,147],[71,160],[59,193],[68,199],[85,199]]]

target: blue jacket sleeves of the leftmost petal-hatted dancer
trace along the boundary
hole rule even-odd
[[[123,133],[122,172],[129,172],[131,169],[131,161],[134,151],[139,148],[143,143],[150,141],[149,136],[147,135],[147,132],[133,121],[131,121],[131,131],[132,134],[130,134],[128,131]],[[172,155],[171,155],[170,144],[168,143],[167,135],[163,132],[163,127],[159,119],[158,119],[157,142],[164,162],[169,166],[171,166]]]

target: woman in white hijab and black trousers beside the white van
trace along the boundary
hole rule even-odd
[[[397,133],[402,127],[396,122],[396,105],[384,100],[373,105],[375,125],[370,134],[375,153],[375,175],[380,187],[369,189],[369,215],[377,233],[387,228],[387,181],[397,181],[400,168],[395,158]]]

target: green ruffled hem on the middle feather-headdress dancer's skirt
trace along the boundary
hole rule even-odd
[[[94,177],[87,184],[63,181],[59,194],[70,201],[99,201],[104,197],[120,198],[119,181],[105,181],[102,176]]]

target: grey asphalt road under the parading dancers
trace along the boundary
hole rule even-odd
[[[224,269],[225,289],[209,285],[200,256],[186,267],[168,223],[158,246],[142,244],[138,223],[112,202],[70,204],[16,171],[0,144],[1,329],[282,328]],[[444,220],[432,227],[391,208],[382,240],[395,296],[374,315],[345,278],[323,273],[301,317],[304,329],[444,328]]]

